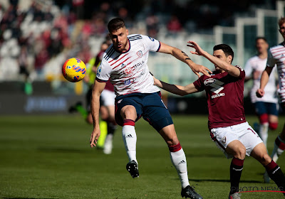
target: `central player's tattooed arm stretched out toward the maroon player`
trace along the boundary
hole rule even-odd
[[[184,53],[182,50],[172,47],[170,45],[167,45],[165,43],[160,42],[160,50],[158,50],[158,52],[160,53],[167,53],[170,55],[173,55],[175,58],[177,58],[178,60],[186,63],[187,65],[190,66],[191,70],[198,76],[199,72],[202,72],[204,75],[207,75],[208,77],[210,77],[209,72],[212,73],[211,70],[209,70],[209,68],[204,67],[204,65],[198,65],[196,63],[194,63],[186,53]]]

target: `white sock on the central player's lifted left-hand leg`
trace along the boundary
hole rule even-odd
[[[125,144],[125,151],[127,151],[129,161],[134,160],[138,163],[135,149],[137,144],[137,134],[135,134],[135,127],[130,125],[123,126],[122,136]]]

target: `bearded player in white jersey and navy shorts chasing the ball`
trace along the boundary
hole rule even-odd
[[[211,71],[193,63],[178,48],[140,34],[129,36],[128,29],[125,28],[121,18],[113,18],[109,21],[108,31],[113,45],[105,51],[94,82],[91,101],[94,129],[90,137],[90,146],[95,146],[100,136],[99,98],[106,82],[110,79],[117,95],[115,119],[117,124],[123,126],[123,141],[129,158],[126,168],[130,175],[133,178],[139,176],[135,122],[143,117],[160,133],[169,147],[172,164],[180,177],[182,197],[202,198],[190,186],[185,153],[177,138],[170,113],[162,102],[160,90],[153,85],[152,75],[147,67],[147,58],[150,51],[167,53],[189,65],[198,77],[199,72],[209,76]]]

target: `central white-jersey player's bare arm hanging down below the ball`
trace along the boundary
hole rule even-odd
[[[96,146],[98,138],[100,136],[100,127],[99,127],[99,109],[100,109],[100,95],[104,90],[106,83],[98,82],[95,80],[92,90],[91,97],[91,114],[93,118],[93,131],[90,137],[90,146]]]

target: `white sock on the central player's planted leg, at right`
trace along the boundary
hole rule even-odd
[[[170,152],[170,158],[173,166],[176,168],[182,188],[187,187],[190,183],[188,180],[186,156],[183,149],[176,152]]]

